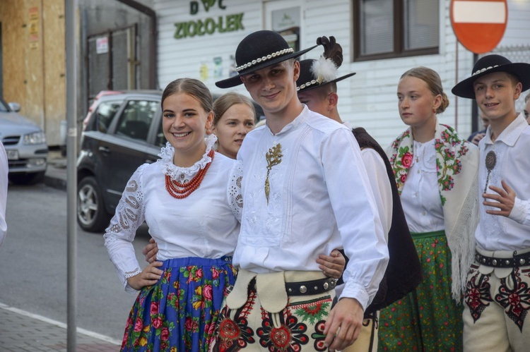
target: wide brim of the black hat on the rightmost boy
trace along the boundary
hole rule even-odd
[[[481,73],[476,73],[465,80],[457,83],[451,90],[454,95],[458,97],[475,99],[475,90],[473,89],[473,83],[483,75],[489,75],[494,72],[507,72],[516,75],[519,78],[523,88],[522,91],[530,89],[530,64],[529,63],[507,63],[505,65],[496,66],[489,68]]]

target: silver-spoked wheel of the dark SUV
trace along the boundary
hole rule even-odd
[[[107,227],[110,214],[105,210],[100,186],[92,176],[83,178],[77,187],[77,222],[81,229],[101,232]]]

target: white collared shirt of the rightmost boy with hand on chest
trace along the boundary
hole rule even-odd
[[[530,248],[530,126],[519,114],[507,128],[491,140],[491,128],[488,127],[485,137],[478,143],[480,163],[478,169],[478,189],[481,221],[475,238],[478,248],[483,250],[522,250]],[[497,162],[490,172],[488,187],[502,188],[505,181],[517,195],[510,217],[486,214],[482,197],[488,178],[485,158],[488,152],[495,152]],[[487,193],[494,193],[489,188]]]

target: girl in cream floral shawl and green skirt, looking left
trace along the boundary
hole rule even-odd
[[[423,282],[381,310],[382,351],[461,351],[461,295],[473,259],[478,221],[478,148],[438,123],[449,105],[440,76],[413,68],[399,80],[401,120],[408,125],[387,150]]]

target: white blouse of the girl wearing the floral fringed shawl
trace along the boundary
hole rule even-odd
[[[413,162],[401,190],[401,205],[408,229],[424,233],[440,231],[444,226],[444,211],[438,188],[435,140],[413,142]]]

